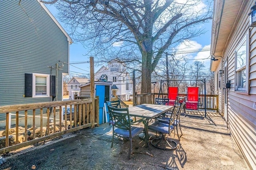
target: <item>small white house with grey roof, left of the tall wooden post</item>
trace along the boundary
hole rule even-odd
[[[88,83],[89,78],[79,78],[79,77],[73,77],[71,80],[69,80],[68,84],[68,92],[69,92],[69,98],[75,99],[76,96],[80,95],[80,85]]]

